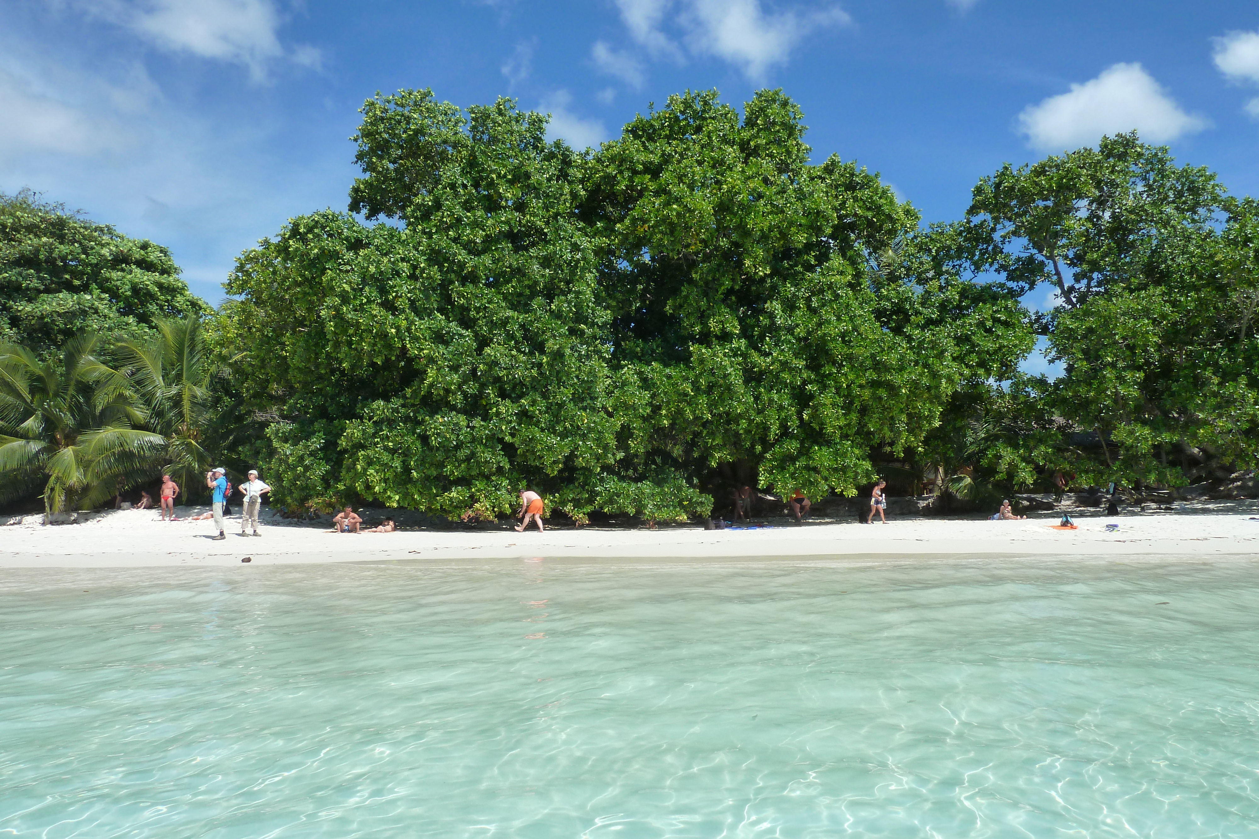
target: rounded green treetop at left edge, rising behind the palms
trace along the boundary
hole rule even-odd
[[[0,194],[0,340],[43,357],[79,332],[138,337],[159,317],[208,311],[165,248],[28,191]]]

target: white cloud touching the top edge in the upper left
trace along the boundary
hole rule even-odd
[[[286,55],[305,67],[319,67],[321,60],[310,45],[286,53],[273,0],[97,0],[82,5],[155,47],[243,64],[254,78]]]

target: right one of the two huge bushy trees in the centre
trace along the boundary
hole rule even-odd
[[[671,97],[590,165],[613,364],[648,399],[631,450],[692,474],[852,494],[919,444],[963,380],[1030,346],[1019,304],[932,270],[879,177],[810,161],[799,108],[762,91]]]

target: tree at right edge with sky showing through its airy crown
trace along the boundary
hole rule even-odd
[[[1030,463],[1136,487],[1255,465],[1256,230],[1253,200],[1134,133],[980,182],[961,234],[974,268],[1056,292],[1039,323],[1064,372],[1037,425],[1059,442],[1027,436]]]

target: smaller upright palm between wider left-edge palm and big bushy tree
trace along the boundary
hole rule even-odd
[[[115,345],[120,370],[142,408],[144,424],[164,440],[164,472],[181,488],[209,468],[203,443],[212,424],[214,366],[201,319],[159,318],[156,335]]]

